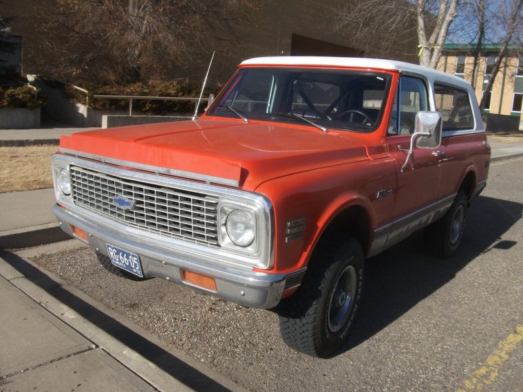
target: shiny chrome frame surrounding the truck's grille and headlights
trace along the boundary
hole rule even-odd
[[[105,226],[106,228],[114,228],[120,232],[125,232],[128,238],[141,243],[156,243],[163,248],[185,250],[185,252],[192,252],[195,254],[205,255],[206,258],[213,263],[222,263],[228,265],[244,265],[246,267],[257,267],[261,269],[268,269],[273,266],[275,259],[275,222],[274,222],[274,208],[270,200],[261,193],[247,192],[244,190],[225,188],[216,185],[207,185],[198,182],[190,182],[184,179],[174,177],[162,177],[150,173],[143,173],[131,171],[124,168],[118,168],[85,160],[80,157],[72,157],[70,155],[55,154],[52,158],[53,165],[73,164],[85,168],[90,168],[95,171],[100,171],[108,175],[118,175],[128,179],[140,179],[142,182],[149,184],[156,184],[159,186],[176,187],[189,192],[202,192],[208,195],[215,196],[220,201],[236,201],[244,203],[253,208],[259,208],[265,224],[263,226],[264,232],[259,233],[260,249],[257,254],[242,254],[242,252],[232,252],[230,249],[222,250],[220,248],[209,248],[207,246],[200,246],[195,243],[182,241],[180,239],[173,239],[158,235],[152,232],[145,232],[138,228],[132,228],[124,224],[119,224],[117,221],[103,217],[93,213],[81,206],[77,206],[72,201],[72,197],[62,196],[55,187],[56,199],[59,204],[63,204],[68,210],[73,211],[78,217],[83,217],[91,222],[96,222]],[[56,184],[56,182],[55,182]],[[267,241],[268,243],[265,243]]]

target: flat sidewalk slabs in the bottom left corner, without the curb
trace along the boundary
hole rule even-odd
[[[2,391],[156,390],[3,277],[0,298]]]

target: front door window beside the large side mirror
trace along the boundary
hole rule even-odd
[[[394,99],[389,122],[389,135],[414,133],[414,120],[421,110],[428,110],[427,87],[423,80],[403,76]]]

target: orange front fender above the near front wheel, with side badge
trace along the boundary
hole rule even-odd
[[[359,206],[365,210],[372,228],[374,210],[370,197],[376,189],[368,162],[358,162],[306,173],[280,177],[259,186],[256,191],[273,203],[275,216],[275,273],[290,273],[306,267],[314,247],[330,222],[343,210]],[[383,186],[383,184],[381,184]],[[378,184],[372,185],[378,187]],[[305,218],[302,232],[288,234],[288,222]]]

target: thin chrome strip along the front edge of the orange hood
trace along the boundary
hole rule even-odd
[[[187,179],[196,179],[198,181],[206,182],[206,184],[222,184],[228,186],[239,186],[239,180],[237,179],[228,179],[222,177],[213,177],[212,175],[204,175],[199,173],[191,173],[189,171],[175,170],[173,168],[165,168],[158,166],[151,166],[147,164],[139,164],[136,162],[129,162],[124,160],[117,160],[114,158],[103,157],[101,155],[95,155],[91,153],[83,153],[81,151],[75,151],[70,149],[63,149],[60,147],[60,151],[63,153],[74,155],[75,157],[85,157],[89,160],[97,160],[103,163],[115,164],[118,166],[127,166],[129,168],[137,168],[139,170],[151,171],[157,174],[167,174],[174,175],[176,177],[182,177]]]

